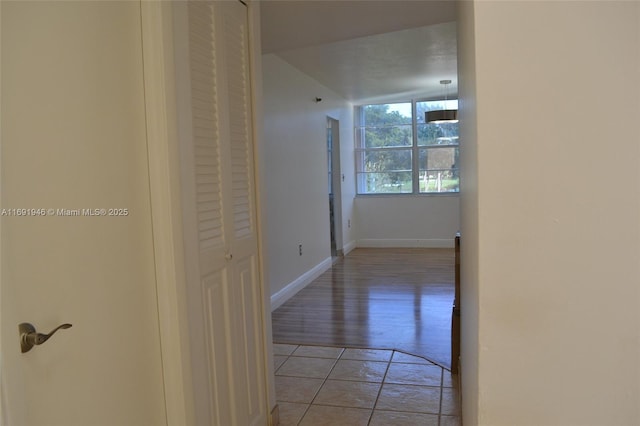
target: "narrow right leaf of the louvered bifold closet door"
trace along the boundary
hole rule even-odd
[[[224,72],[224,89],[221,88],[221,105],[224,105],[227,152],[229,166],[228,196],[226,206],[233,220],[225,228],[230,236],[230,262],[232,322],[235,327],[234,396],[239,408],[237,424],[266,424],[264,359],[262,354],[262,295],[259,287],[257,265],[258,245],[256,231],[255,188],[253,167],[253,135],[251,128],[251,85],[249,70],[249,46],[247,9],[240,2],[217,2],[220,21],[216,34],[223,45],[221,67]],[[222,95],[224,90],[224,96]]]

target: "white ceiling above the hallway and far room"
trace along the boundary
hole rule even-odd
[[[457,92],[455,1],[266,0],[263,53],[352,102]]]

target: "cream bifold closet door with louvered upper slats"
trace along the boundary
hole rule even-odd
[[[178,4],[174,24],[197,421],[264,425],[247,9]]]

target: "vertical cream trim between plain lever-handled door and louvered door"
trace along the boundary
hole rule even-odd
[[[149,192],[168,426],[195,424],[170,2],[141,2]]]

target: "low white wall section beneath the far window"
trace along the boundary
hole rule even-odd
[[[458,195],[356,198],[358,247],[453,247]]]

